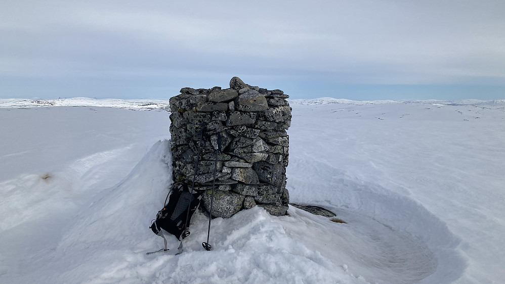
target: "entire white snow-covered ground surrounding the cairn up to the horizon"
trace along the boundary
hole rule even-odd
[[[502,101],[292,100],[291,202],[348,223],[256,207],[214,219],[207,252],[196,213],[182,255],[175,237],[146,255],[170,186],[166,104],[0,100],[1,283],[505,279]]]

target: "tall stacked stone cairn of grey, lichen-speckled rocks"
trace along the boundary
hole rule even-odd
[[[216,187],[212,215],[228,218],[241,209],[258,205],[275,216],[285,215],[289,204],[286,190],[291,124],[289,98],[282,90],[250,86],[240,78],[230,88],[182,88],[170,99],[170,133],[174,180],[191,184],[200,141],[195,190],[203,194],[203,206],[211,205],[212,182],[218,135]]]

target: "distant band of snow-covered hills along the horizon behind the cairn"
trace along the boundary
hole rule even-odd
[[[487,105],[505,106],[505,100],[408,100],[408,101],[352,101],[347,99],[318,98],[318,99],[297,99],[288,100],[291,105],[327,105],[327,104],[349,104],[349,105],[377,105],[377,104],[411,104],[424,103],[435,105]],[[170,110],[169,100],[121,100],[121,99],[92,99],[92,98],[70,98],[57,100],[33,100],[33,99],[0,99],[0,108],[37,108],[37,107],[109,107],[130,110]]]

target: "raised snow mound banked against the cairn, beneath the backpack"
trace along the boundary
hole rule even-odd
[[[276,218],[256,207],[230,219],[217,218],[212,223],[211,252],[200,245],[206,240],[207,222],[197,213],[182,255],[174,255],[179,242],[170,236],[171,251],[146,255],[162,244],[148,226],[170,186],[170,164],[170,143],[159,141],[127,177],[75,211],[56,245],[32,259],[33,267],[41,271],[22,280],[366,283],[286,233],[283,222],[292,218],[305,222],[297,211],[291,212],[293,217]]]

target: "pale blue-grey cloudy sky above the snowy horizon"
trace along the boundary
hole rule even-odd
[[[505,99],[505,1],[0,0],[0,98]]]

